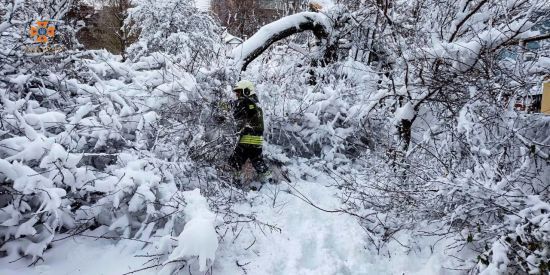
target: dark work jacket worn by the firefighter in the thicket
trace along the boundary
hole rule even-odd
[[[255,95],[241,97],[234,102],[233,117],[237,122],[237,131],[242,135],[262,136],[264,117]]]

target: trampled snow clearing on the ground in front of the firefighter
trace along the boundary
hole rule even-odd
[[[298,180],[292,185],[320,208],[334,210],[341,205],[334,196],[337,191],[321,183]],[[243,274],[243,268],[248,274],[281,275],[447,274],[439,254],[407,255],[403,247],[393,243],[391,258],[377,255],[366,249],[364,230],[355,218],[321,211],[282,190],[297,194],[285,183],[267,185],[259,194],[250,193],[251,203],[237,209],[257,213],[281,232],[263,234],[255,230],[254,236],[241,234],[225,240],[216,258],[215,274]],[[407,242],[404,237],[398,237],[400,242]]]

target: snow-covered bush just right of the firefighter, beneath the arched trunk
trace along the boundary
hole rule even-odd
[[[263,83],[259,85],[270,142],[302,157],[326,160],[357,157],[368,144],[368,137],[360,131],[362,121],[357,117],[368,97],[357,90],[375,86],[378,76],[367,70],[357,82],[350,81],[346,73],[356,73],[356,68],[350,67],[346,73],[335,73],[316,86],[308,86],[307,68],[271,70],[271,62],[276,63],[271,60],[262,68],[265,78],[261,78]],[[337,71],[335,67],[346,65],[329,68]],[[302,77],[287,80],[284,74],[288,71]]]

